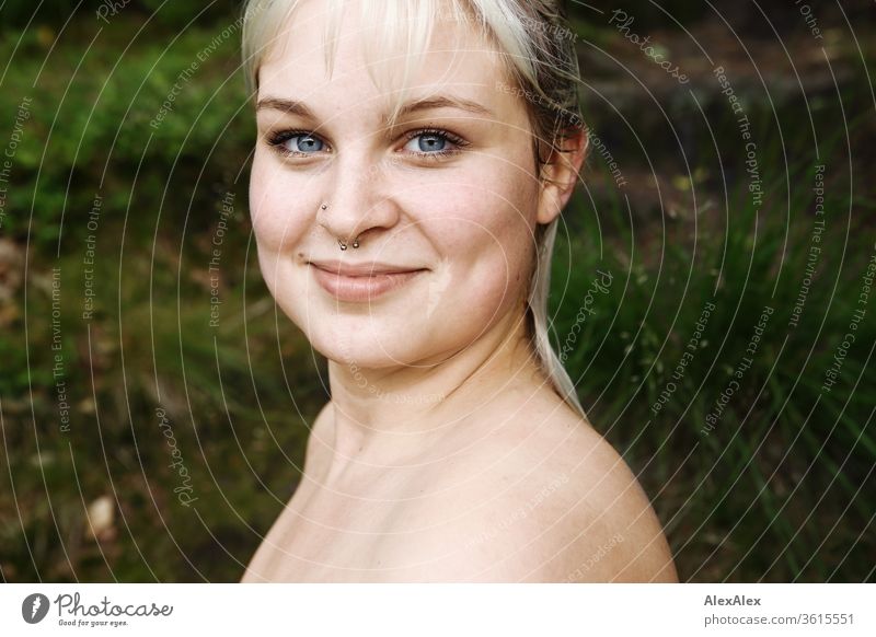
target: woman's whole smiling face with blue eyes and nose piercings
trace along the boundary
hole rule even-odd
[[[394,96],[369,77],[355,19],[328,77],[320,4],[301,7],[260,69],[262,273],[332,360],[447,358],[523,316],[540,199],[523,99],[487,44],[443,21],[390,127]]]

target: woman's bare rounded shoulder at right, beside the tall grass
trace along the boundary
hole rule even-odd
[[[447,478],[462,484],[461,473],[473,474],[447,503],[454,523],[442,532],[457,549],[435,571],[445,579],[678,581],[647,496],[577,414],[531,421],[466,464]]]

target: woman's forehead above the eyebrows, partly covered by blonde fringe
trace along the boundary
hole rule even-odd
[[[519,100],[499,90],[510,84],[506,62],[474,18],[460,21],[439,11],[427,34],[423,22],[388,22],[376,10],[381,4],[344,3],[335,15],[334,2],[301,2],[260,67],[260,96],[385,111],[403,94],[451,91],[499,115],[520,108]]]

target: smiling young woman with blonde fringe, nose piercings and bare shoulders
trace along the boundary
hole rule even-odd
[[[561,26],[548,0],[247,7],[260,265],[331,401],[243,581],[676,580],[548,339],[587,148]]]

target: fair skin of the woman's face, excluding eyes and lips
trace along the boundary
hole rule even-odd
[[[438,40],[449,39],[440,35]],[[404,140],[384,139],[381,115],[390,102],[364,71],[358,43],[341,45],[334,76],[326,80],[320,37],[316,28],[293,30],[287,57],[269,61],[260,73],[260,97],[306,100],[321,114],[324,137],[334,142],[331,153],[295,167],[257,144],[250,197],[265,280],[314,348],[330,358],[338,341],[347,343],[346,354],[359,364],[377,367],[387,359],[410,364],[465,347],[526,296],[520,270],[532,264],[539,194],[526,111],[519,100],[494,89],[488,51],[466,53],[464,65],[452,62],[453,51],[430,54],[422,74],[428,90],[440,90],[429,79],[452,66],[448,92],[485,104],[496,118],[453,109],[418,114],[405,129],[440,123],[470,146],[450,160],[393,159]],[[484,45],[475,40],[473,46]],[[319,90],[303,90],[309,86]],[[262,130],[304,124],[276,112],[258,117]],[[369,177],[362,181],[365,171]],[[320,215],[323,201],[331,206]],[[370,312],[339,311],[313,289],[297,255],[339,258],[334,238],[355,233],[362,233],[361,247],[343,257],[427,267],[429,278],[449,279],[428,321],[426,278]],[[436,325],[451,322],[457,329],[436,333]],[[351,339],[351,333],[360,337]]]

